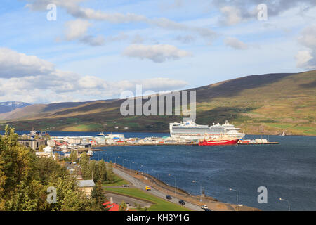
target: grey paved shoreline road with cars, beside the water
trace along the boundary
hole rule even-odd
[[[140,188],[141,190],[145,190],[145,186],[147,186],[147,184],[144,184],[142,181],[139,181],[138,179],[135,179],[133,176],[126,174],[125,172],[122,172],[119,169],[113,168],[113,172],[119,176],[121,176],[121,178],[126,179],[126,181],[131,182],[131,184],[133,184],[133,186],[136,186],[136,188]],[[166,194],[162,193],[154,188],[151,188],[152,191],[150,191],[150,193],[152,193],[152,195],[156,195],[159,198],[163,198],[164,200],[166,200]],[[172,196],[172,199],[169,200],[173,203],[179,204],[178,201],[180,199],[176,198],[174,196]],[[179,204],[180,205],[180,204]],[[195,211],[204,211],[201,209],[201,207],[199,207],[198,205],[192,204],[192,203],[188,203],[185,202],[185,205],[183,205],[187,208],[189,208],[190,210],[195,210]]]

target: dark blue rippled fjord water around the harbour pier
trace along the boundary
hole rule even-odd
[[[0,132],[1,133],[1,132]],[[28,133],[18,131],[19,134]],[[3,134],[3,133],[2,133]],[[98,132],[58,132],[51,136],[95,136]],[[117,133],[118,134],[118,133]],[[162,133],[124,133],[126,137],[169,136]],[[255,139],[260,136],[245,136]],[[267,138],[267,136],[263,136]],[[113,146],[104,147],[93,159],[117,161],[140,169],[188,193],[206,195],[220,201],[258,207],[261,210],[316,210],[316,137],[269,136],[279,145],[258,146]],[[133,162],[133,163],[131,163]],[[143,167],[141,167],[143,165]],[[173,176],[168,176],[171,174]],[[259,186],[268,189],[268,203],[257,201]]]

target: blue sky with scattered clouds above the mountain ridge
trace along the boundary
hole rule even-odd
[[[0,101],[56,103],[316,69],[315,0],[1,0]]]

